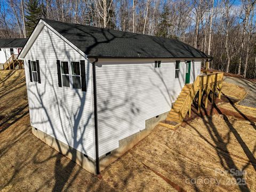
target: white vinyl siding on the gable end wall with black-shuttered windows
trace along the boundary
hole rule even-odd
[[[39,60],[41,84],[29,81],[28,60]],[[57,60],[85,60],[87,91],[58,86]],[[46,26],[25,57],[31,125],[95,159],[91,65]]]

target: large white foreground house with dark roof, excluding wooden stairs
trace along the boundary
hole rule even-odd
[[[19,55],[32,131],[99,173],[166,118],[208,58],[175,39],[41,19]]]

